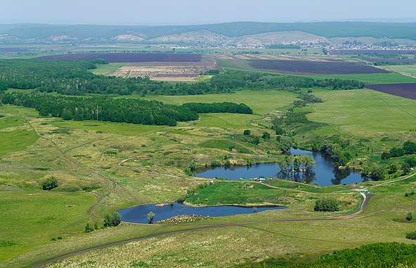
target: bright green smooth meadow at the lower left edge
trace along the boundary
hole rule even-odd
[[[95,199],[91,194],[78,193],[1,192],[0,241],[14,246],[0,246],[0,262],[51,243],[53,237],[81,232],[89,221],[86,210]]]

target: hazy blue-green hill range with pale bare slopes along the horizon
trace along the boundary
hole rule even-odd
[[[416,40],[416,22],[228,22],[212,25],[0,25],[0,44],[245,43],[259,46],[333,38]]]

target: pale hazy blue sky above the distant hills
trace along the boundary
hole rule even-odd
[[[416,18],[416,0],[1,0],[0,23],[177,25]]]

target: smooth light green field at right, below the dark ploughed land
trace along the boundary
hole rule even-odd
[[[354,91],[314,91],[324,100],[313,105],[308,119],[331,126],[316,130],[325,135],[345,134],[361,138],[381,138],[385,134],[403,137],[416,120],[414,100],[369,89]]]

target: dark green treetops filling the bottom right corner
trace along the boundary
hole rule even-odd
[[[337,250],[323,255],[315,262],[307,260],[271,258],[252,264],[240,264],[240,268],[277,267],[416,267],[416,244],[374,243],[359,248]]]

